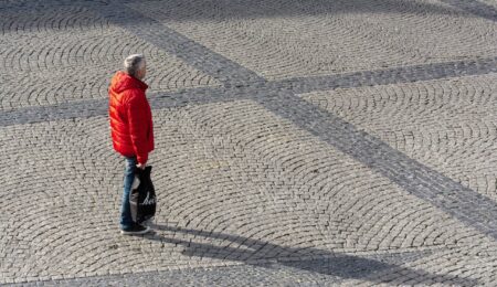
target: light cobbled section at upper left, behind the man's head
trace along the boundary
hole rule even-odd
[[[106,99],[109,75],[126,55],[137,52],[150,62],[150,92],[219,85],[175,55],[114,26],[82,2],[2,9],[0,15],[2,110]]]

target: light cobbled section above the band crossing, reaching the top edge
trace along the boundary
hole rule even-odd
[[[128,6],[269,81],[495,55],[494,21],[432,0]]]

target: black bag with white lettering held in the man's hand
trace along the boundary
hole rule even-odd
[[[150,172],[150,166],[135,170],[135,180],[131,185],[129,201],[133,220],[137,223],[148,221],[156,214],[157,198]]]

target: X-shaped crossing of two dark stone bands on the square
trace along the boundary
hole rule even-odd
[[[463,3],[462,1],[444,2],[451,2],[458,7]],[[473,1],[473,3],[477,2]],[[480,6],[475,7],[477,8],[466,10],[473,13],[479,11],[478,15],[487,18],[482,12]],[[359,131],[349,123],[297,97],[302,93],[328,91],[339,87],[384,85],[494,73],[497,72],[496,59],[398,67],[385,71],[366,71],[343,75],[306,77],[267,83],[255,73],[207,50],[181,34],[172,30],[163,30],[163,25],[151,19],[146,19],[145,22],[141,22],[142,24],[155,26],[155,29],[150,29],[148,33],[144,34],[141,26],[128,25],[123,19],[115,18],[123,10],[119,10],[117,14],[113,14],[109,10],[105,9],[103,11],[113,21],[117,23],[120,21],[119,24],[126,30],[135,34],[139,33],[139,36],[148,42],[175,54],[188,64],[214,76],[225,84],[225,87],[222,88],[195,88],[178,93],[158,93],[151,98],[154,108],[226,102],[239,98],[256,100],[272,113],[292,120],[298,127],[310,131],[329,145],[389,178],[409,193],[432,203],[483,234],[495,240],[497,238],[497,204],[490,199],[410,159],[383,141]],[[113,11],[116,11],[114,7]],[[127,14],[129,13],[127,12]],[[141,14],[139,17],[144,19]],[[495,14],[493,12],[489,12],[488,18],[495,21]],[[159,28],[162,33],[156,34]],[[191,60],[199,57],[207,57],[210,61],[208,63],[199,63]],[[282,105],[282,103],[285,103],[285,105]],[[30,107],[3,111],[0,116],[0,126],[67,118],[89,118],[106,114],[106,99],[74,102],[60,106]],[[480,211],[482,209],[484,211]]]

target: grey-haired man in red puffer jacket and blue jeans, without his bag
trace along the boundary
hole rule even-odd
[[[108,89],[113,146],[126,158],[120,228],[127,235],[150,231],[150,227],[133,221],[129,203],[135,170],[145,169],[148,153],[154,150],[152,116],[145,96],[148,86],[141,82],[146,73],[144,55],[130,55],[124,62],[124,71],[114,75]]]

